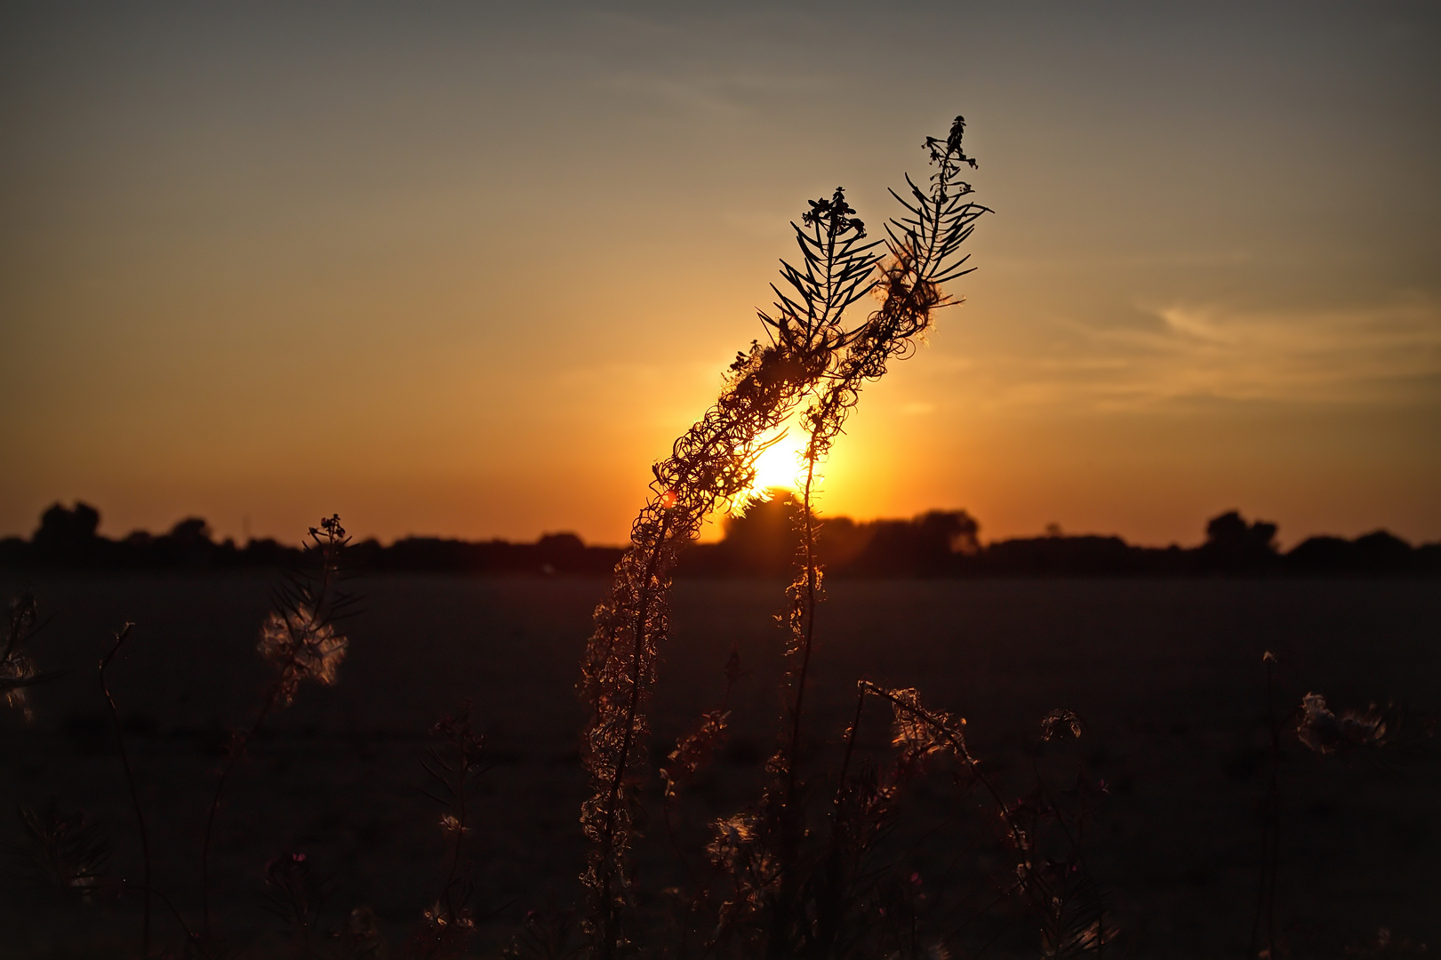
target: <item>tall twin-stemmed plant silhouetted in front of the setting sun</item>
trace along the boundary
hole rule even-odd
[[[970,202],[960,179],[976,163],[965,156],[960,117],[945,140],[928,138],[935,173],[927,189],[909,177],[909,196],[896,199],[905,213],[886,225],[880,242],[866,238],[844,192],[810,202],[793,223],[800,267],[782,261],[784,290],[772,313],[762,313],[768,343],[752,343],[736,356],[716,404],[653,467],[651,500],[631,528],[631,543],[615,568],[611,597],[595,613],[595,631],[582,662],[581,692],[591,708],[585,764],[592,796],[582,825],[591,842],[584,875],[591,895],[586,930],[594,954],[610,960],[625,947],[628,866],[635,791],[646,783],[647,703],[656,679],[659,646],[669,631],[667,594],[677,551],[695,539],[708,513],[751,489],[762,437],[801,402],[808,432],[803,489],[801,574],[791,588],[793,670],[787,682],[788,725],[768,764],[772,784],[761,813],[722,827],[722,848],[757,845],[746,858],[764,888],[757,897],[772,915],[768,950],[782,950],[784,928],[797,897],[795,848],[800,814],[795,797],[795,750],[801,735],[806,676],[814,639],[820,566],[814,556],[811,494],[817,464],[840,434],[867,381],[880,378],[891,359],[905,356],[948,303],[941,284],[967,272],[958,257],[984,208]],[[876,290],[880,307],[850,324],[847,308]],[[715,728],[723,718],[712,718]],[[702,731],[706,726],[702,725]],[[712,739],[715,731],[712,731]]]

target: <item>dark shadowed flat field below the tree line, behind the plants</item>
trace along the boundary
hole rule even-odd
[[[17,803],[42,807],[53,796],[114,837],[111,876],[138,884],[138,843],[94,670],[112,631],[134,621],[112,689],[131,731],[157,888],[195,923],[212,771],[226,726],[246,716],[264,679],[254,649],[269,585],[265,575],[35,582],[42,614],[55,614],[35,641],[37,660],[73,673],[32,693],[32,725],[0,716],[0,842],[19,836]],[[574,685],[605,587],[448,577],[365,584],[340,683],[303,688],[233,777],[213,868],[218,927],[231,944],[268,956],[275,923],[262,907],[265,863],[291,852],[327,878],[326,923],[366,905],[392,943],[403,937],[445,868],[441,812],[416,790],[427,728],[467,699],[494,763],[476,832],[476,907],[488,915],[477,951],[493,953],[527,911],[572,904],[586,788]],[[738,810],[755,794],[778,716],[781,636],[771,615],[781,603],[781,585],[768,581],[677,588],[656,748],[669,750],[699,711],[719,705],[733,644],[752,670],[732,698],[731,745],[686,799],[690,820]],[[1281,711],[1308,690],[1334,706],[1441,709],[1437,581],[831,581],[820,634],[807,721],[817,793],[857,677],[919,688],[928,703],[964,715],[973,750],[1012,796],[1038,773],[1062,786],[1084,767],[1105,781],[1085,853],[1124,933],[1117,956],[1246,956],[1268,768],[1264,652],[1280,659]],[[1075,745],[1040,750],[1040,718],[1055,706],[1088,726]],[[880,750],[883,731],[866,741]],[[1441,948],[1438,767],[1434,745],[1320,757],[1294,738],[1284,744],[1277,925],[1293,956],[1406,956],[1406,940]],[[953,957],[1036,953],[1013,907],[957,930],[1004,882],[994,822],[981,796],[937,771],[912,794],[911,833],[898,833],[909,837],[895,846],[905,875],[947,905],[925,923],[948,937]],[[672,882],[659,812],[647,833],[643,881]],[[699,833],[682,827],[682,843],[689,836]],[[0,956],[137,951],[138,897],[68,908],[7,889],[0,898]],[[156,923],[157,938],[179,947],[166,911]],[[1379,928],[1391,931],[1389,953],[1362,953]]]

